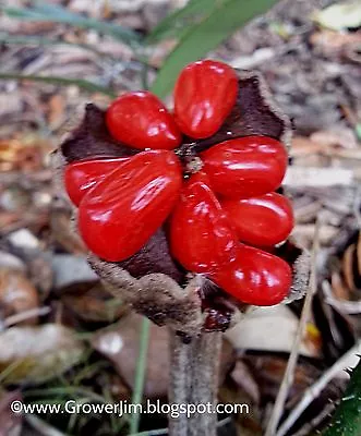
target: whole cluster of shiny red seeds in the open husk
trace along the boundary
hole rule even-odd
[[[200,154],[202,168],[185,181],[175,153],[183,134],[215,134],[237,95],[234,71],[205,60],[181,72],[173,114],[148,92],[124,94],[110,105],[110,134],[143,152],[67,167],[65,186],[92,252],[124,261],[168,219],[171,254],[186,270],[249,304],[277,304],[288,294],[291,269],[269,253],[293,226],[288,199],[274,192],[287,168],[284,145],[266,136],[216,144]]]

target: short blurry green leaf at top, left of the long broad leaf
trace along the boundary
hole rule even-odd
[[[224,2],[225,0],[191,0],[155,26],[146,37],[146,43],[154,44],[164,38],[179,36],[180,32],[209,15],[216,3]]]

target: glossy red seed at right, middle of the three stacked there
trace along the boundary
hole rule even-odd
[[[291,203],[275,192],[258,197],[224,199],[221,206],[240,241],[251,245],[276,245],[285,241],[293,228]]]

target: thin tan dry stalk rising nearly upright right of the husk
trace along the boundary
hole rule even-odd
[[[288,397],[289,388],[293,383],[293,375],[294,370],[300,352],[301,341],[304,335],[305,326],[310,317],[311,306],[312,306],[312,299],[317,288],[317,280],[316,280],[316,256],[318,252],[318,233],[320,233],[320,220],[316,220],[315,231],[314,231],[314,240],[313,240],[313,247],[312,247],[312,258],[311,258],[311,276],[310,276],[310,284],[309,289],[304,299],[304,304],[299,322],[299,327],[296,332],[296,338],[293,342],[293,347],[291,353],[289,355],[286,372],[282,378],[282,383],[280,385],[275,407],[272,411],[268,425],[266,428],[265,436],[274,436],[276,434],[277,425],[284,412],[285,402]]]

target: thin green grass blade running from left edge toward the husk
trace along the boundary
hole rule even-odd
[[[65,77],[57,77],[57,76],[43,76],[43,75],[32,75],[32,74],[19,74],[19,73],[0,73],[0,80],[16,80],[16,81],[34,81],[34,82],[44,82],[52,85],[62,85],[62,86],[71,86],[76,85],[82,89],[85,89],[89,93],[101,93],[111,98],[115,98],[117,95],[111,89],[96,85],[93,82],[85,81],[83,78],[65,78]]]

